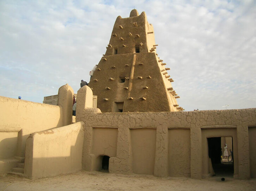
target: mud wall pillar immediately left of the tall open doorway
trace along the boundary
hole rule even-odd
[[[202,135],[201,128],[193,127],[190,129],[191,159],[190,172],[191,178],[202,179]]]

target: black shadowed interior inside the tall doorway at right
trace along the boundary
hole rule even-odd
[[[207,138],[208,154],[212,162],[212,167],[216,176],[232,176],[234,174],[234,163],[223,162],[222,156],[224,149],[221,145],[221,137]],[[232,144],[233,145],[233,144]]]

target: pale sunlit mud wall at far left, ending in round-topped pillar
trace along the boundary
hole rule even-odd
[[[58,94],[59,106],[0,97],[0,159],[24,157],[31,133],[71,124],[73,89],[66,84]]]

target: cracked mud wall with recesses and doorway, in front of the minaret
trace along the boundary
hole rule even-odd
[[[100,157],[100,153],[93,153],[93,148],[106,147],[106,144],[94,140],[97,132],[98,137],[104,134],[115,137],[116,143],[107,144],[112,146],[109,171],[113,173],[206,178],[211,167],[207,138],[232,137],[234,178],[255,176],[255,144],[251,136],[249,139],[249,131],[254,136],[256,108],[101,113],[86,103],[86,100],[91,101],[87,99],[90,96],[92,90],[88,86],[80,88],[77,121],[85,122],[82,162],[85,170],[93,170],[97,157]],[[115,130],[104,132],[111,128]]]

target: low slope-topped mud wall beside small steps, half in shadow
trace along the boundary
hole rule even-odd
[[[25,176],[42,178],[81,170],[84,122],[31,134],[26,141]]]

